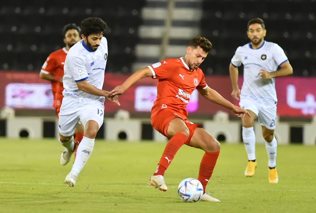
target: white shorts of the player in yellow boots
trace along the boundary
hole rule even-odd
[[[240,107],[245,110],[251,110],[254,112],[258,121],[262,126],[267,129],[275,129],[276,127],[276,104],[275,107],[266,108],[258,104],[252,98],[242,98],[239,102]]]

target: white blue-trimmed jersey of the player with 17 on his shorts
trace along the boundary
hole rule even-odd
[[[91,95],[78,89],[76,82],[86,80],[89,84],[98,89],[102,89],[104,82],[104,72],[107,61],[107,40],[101,38],[100,46],[96,51],[90,50],[83,42],[78,41],[70,48],[64,65],[64,91],[63,95],[89,98],[103,102],[105,97]]]

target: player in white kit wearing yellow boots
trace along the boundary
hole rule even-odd
[[[250,42],[237,48],[229,65],[233,85],[231,95],[236,100],[240,100],[240,106],[251,114],[251,117],[246,114],[242,118],[242,138],[248,154],[248,166],[245,175],[247,177],[253,176],[257,167],[253,122],[258,117],[269,158],[269,182],[277,183],[277,142],[273,135],[277,104],[274,78],[291,75],[293,69],[283,49],[276,43],[264,40],[266,29],[262,19],[255,18],[248,22],[247,35]],[[244,82],[240,91],[238,66],[241,64],[244,65]],[[278,67],[280,69],[277,69]]]

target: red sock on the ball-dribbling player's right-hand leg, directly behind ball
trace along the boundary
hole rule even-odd
[[[200,170],[198,173],[198,180],[201,181],[205,193],[206,185],[212,176],[216,161],[219,155],[218,152],[206,152],[201,160]]]

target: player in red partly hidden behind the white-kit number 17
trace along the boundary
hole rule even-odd
[[[58,117],[59,109],[63,100],[63,76],[64,76],[64,62],[66,55],[70,47],[74,46],[78,41],[81,40],[80,28],[76,24],[67,24],[63,29],[65,47],[51,53],[46,59],[40,71],[40,77],[51,81],[52,91],[54,95],[53,107],[56,109]],[[79,143],[82,140],[84,133],[84,127],[79,126],[75,131],[74,141]],[[75,153],[76,154],[76,153]],[[76,155],[75,155],[76,157]]]

